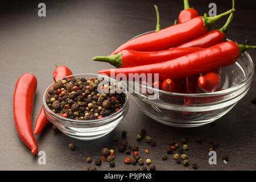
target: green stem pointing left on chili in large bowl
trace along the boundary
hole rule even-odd
[[[112,64],[114,67],[120,68],[122,65],[122,53],[118,52],[116,55],[112,56],[95,56],[94,61],[102,61]]]

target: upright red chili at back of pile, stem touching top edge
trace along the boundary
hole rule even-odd
[[[188,0],[184,0],[184,10],[182,10],[179,14],[179,23],[187,22],[188,20],[191,20],[192,18],[195,18],[197,16],[199,16],[198,11],[192,9],[189,6]]]

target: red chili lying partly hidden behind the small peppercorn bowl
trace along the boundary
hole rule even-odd
[[[65,66],[59,66],[58,64],[55,64],[57,68],[55,68],[53,72],[53,77],[56,80],[59,80],[60,78],[73,75],[71,70],[68,67]],[[71,77],[72,78],[72,77]],[[35,123],[35,129],[34,134],[38,135],[44,127],[46,127],[50,122],[48,121],[46,115],[44,115],[43,107],[38,115],[38,118],[36,119]]]

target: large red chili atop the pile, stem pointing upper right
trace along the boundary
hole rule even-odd
[[[122,46],[115,49],[111,55],[114,55],[124,49],[134,51],[161,51],[170,47],[178,46],[181,43],[188,42],[189,40],[193,40],[207,34],[209,28],[212,27],[218,19],[234,11],[235,9],[232,9],[220,15],[209,16],[206,18],[203,16],[197,16],[188,22],[175,24],[164,28],[163,30],[139,36],[136,39],[122,44]]]

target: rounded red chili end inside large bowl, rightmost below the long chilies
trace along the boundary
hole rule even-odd
[[[221,86],[221,74],[221,69],[204,73],[198,78],[199,88],[206,93],[217,91]]]

